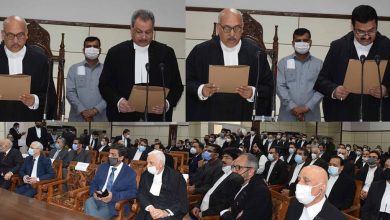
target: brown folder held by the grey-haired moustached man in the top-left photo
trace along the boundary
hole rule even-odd
[[[169,89],[165,88],[168,95]],[[146,86],[134,85],[129,97],[130,105],[135,107],[136,112],[145,111],[146,103]],[[149,86],[148,113],[152,113],[155,106],[164,106],[164,91],[160,86]]]

